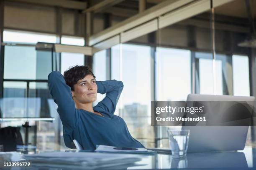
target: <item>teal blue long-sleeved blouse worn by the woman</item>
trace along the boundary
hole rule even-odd
[[[83,149],[95,149],[96,145],[116,147],[144,148],[134,139],[125,121],[113,113],[123,90],[123,82],[117,80],[96,81],[98,93],[105,94],[93,110],[103,116],[75,107],[71,88],[66,85],[60,72],[51,72],[48,75],[50,93],[58,105],[63,124],[65,145],[72,148],[72,141],[76,139]]]

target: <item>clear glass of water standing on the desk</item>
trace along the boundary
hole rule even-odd
[[[189,130],[168,130],[169,148],[172,155],[186,155],[189,141]]]

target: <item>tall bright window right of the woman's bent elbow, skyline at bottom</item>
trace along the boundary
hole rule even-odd
[[[112,47],[111,56],[111,78],[124,84],[115,114],[125,120],[134,138],[147,147],[154,147],[154,130],[150,125],[151,48],[121,44]]]

